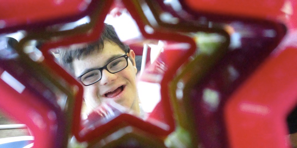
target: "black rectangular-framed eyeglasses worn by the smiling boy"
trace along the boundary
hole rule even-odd
[[[90,70],[78,77],[84,86],[92,85],[102,78],[102,70],[106,69],[109,73],[117,73],[128,66],[129,54],[125,54],[121,57],[117,57],[112,61],[108,62],[105,66],[97,69]]]

